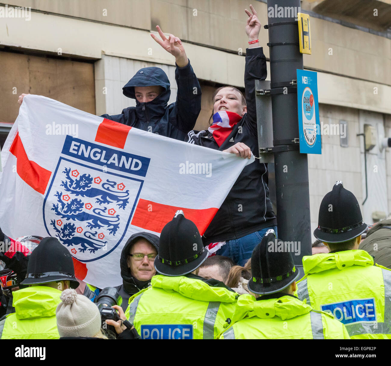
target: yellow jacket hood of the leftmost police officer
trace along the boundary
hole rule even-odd
[[[47,286],[31,286],[13,292],[13,306],[18,319],[55,316],[61,291]]]

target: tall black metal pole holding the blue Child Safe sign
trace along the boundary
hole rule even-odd
[[[295,18],[300,0],[267,0],[267,9],[273,145],[288,145],[286,151],[274,152],[278,237],[300,242],[300,255],[292,256],[302,269],[302,257],[312,254],[308,160],[307,154],[300,154],[298,144],[289,143],[299,137],[297,92],[292,81],[296,81],[296,69],[303,69]],[[282,92],[273,93],[273,89],[281,88]]]

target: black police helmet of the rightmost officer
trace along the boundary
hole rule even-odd
[[[326,243],[345,242],[361,235],[368,225],[362,221],[360,205],[342,181],[323,197],[314,237]]]

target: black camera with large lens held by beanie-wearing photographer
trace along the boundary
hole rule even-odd
[[[108,325],[106,320],[120,320],[117,312],[112,308],[113,305],[121,306],[122,304],[122,297],[118,294],[118,291],[114,287],[105,287],[95,298],[94,303],[96,303],[100,312],[102,328],[116,334],[114,327],[112,325]]]

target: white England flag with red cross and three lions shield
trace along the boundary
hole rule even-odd
[[[120,285],[130,235],[159,235],[177,210],[203,235],[253,161],[27,95],[2,151],[0,226],[56,237],[78,278]]]

